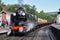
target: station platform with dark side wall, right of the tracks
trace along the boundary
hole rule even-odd
[[[50,25],[50,30],[54,34],[57,40],[60,40],[60,24]]]

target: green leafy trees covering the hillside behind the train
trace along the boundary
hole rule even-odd
[[[3,4],[4,4],[4,3],[2,3],[1,6],[2,6]],[[27,11],[28,13],[34,14],[34,15],[36,15],[36,16],[39,17],[39,18],[43,18],[43,19],[47,19],[47,20],[53,20],[53,19],[55,18],[55,17],[52,16],[52,15],[49,15],[49,14],[44,13],[43,10],[42,10],[40,13],[38,13],[38,12],[36,11],[35,5],[30,6],[30,5],[28,5],[28,4],[25,4],[24,7],[25,7],[25,9],[26,9],[26,11]],[[18,5],[18,4],[14,4],[14,5],[8,4],[8,5],[7,5],[7,11],[14,12],[14,11],[15,11],[15,8],[19,8],[19,5]]]

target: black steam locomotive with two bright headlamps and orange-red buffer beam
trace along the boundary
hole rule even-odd
[[[9,28],[7,35],[16,33],[27,33],[35,28],[37,25],[37,16],[29,14],[22,7],[17,9],[15,13],[10,16],[11,27]]]

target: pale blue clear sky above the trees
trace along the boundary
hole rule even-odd
[[[18,4],[18,0],[2,0],[5,4]],[[35,5],[38,12],[55,12],[60,8],[60,0],[23,0],[24,4]]]

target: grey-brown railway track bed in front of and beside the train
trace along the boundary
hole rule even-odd
[[[24,36],[9,36],[7,37],[6,34],[0,35],[0,40],[51,40],[48,34],[49,30],[48,27],[43,27],[36,29],[27,35]]]

